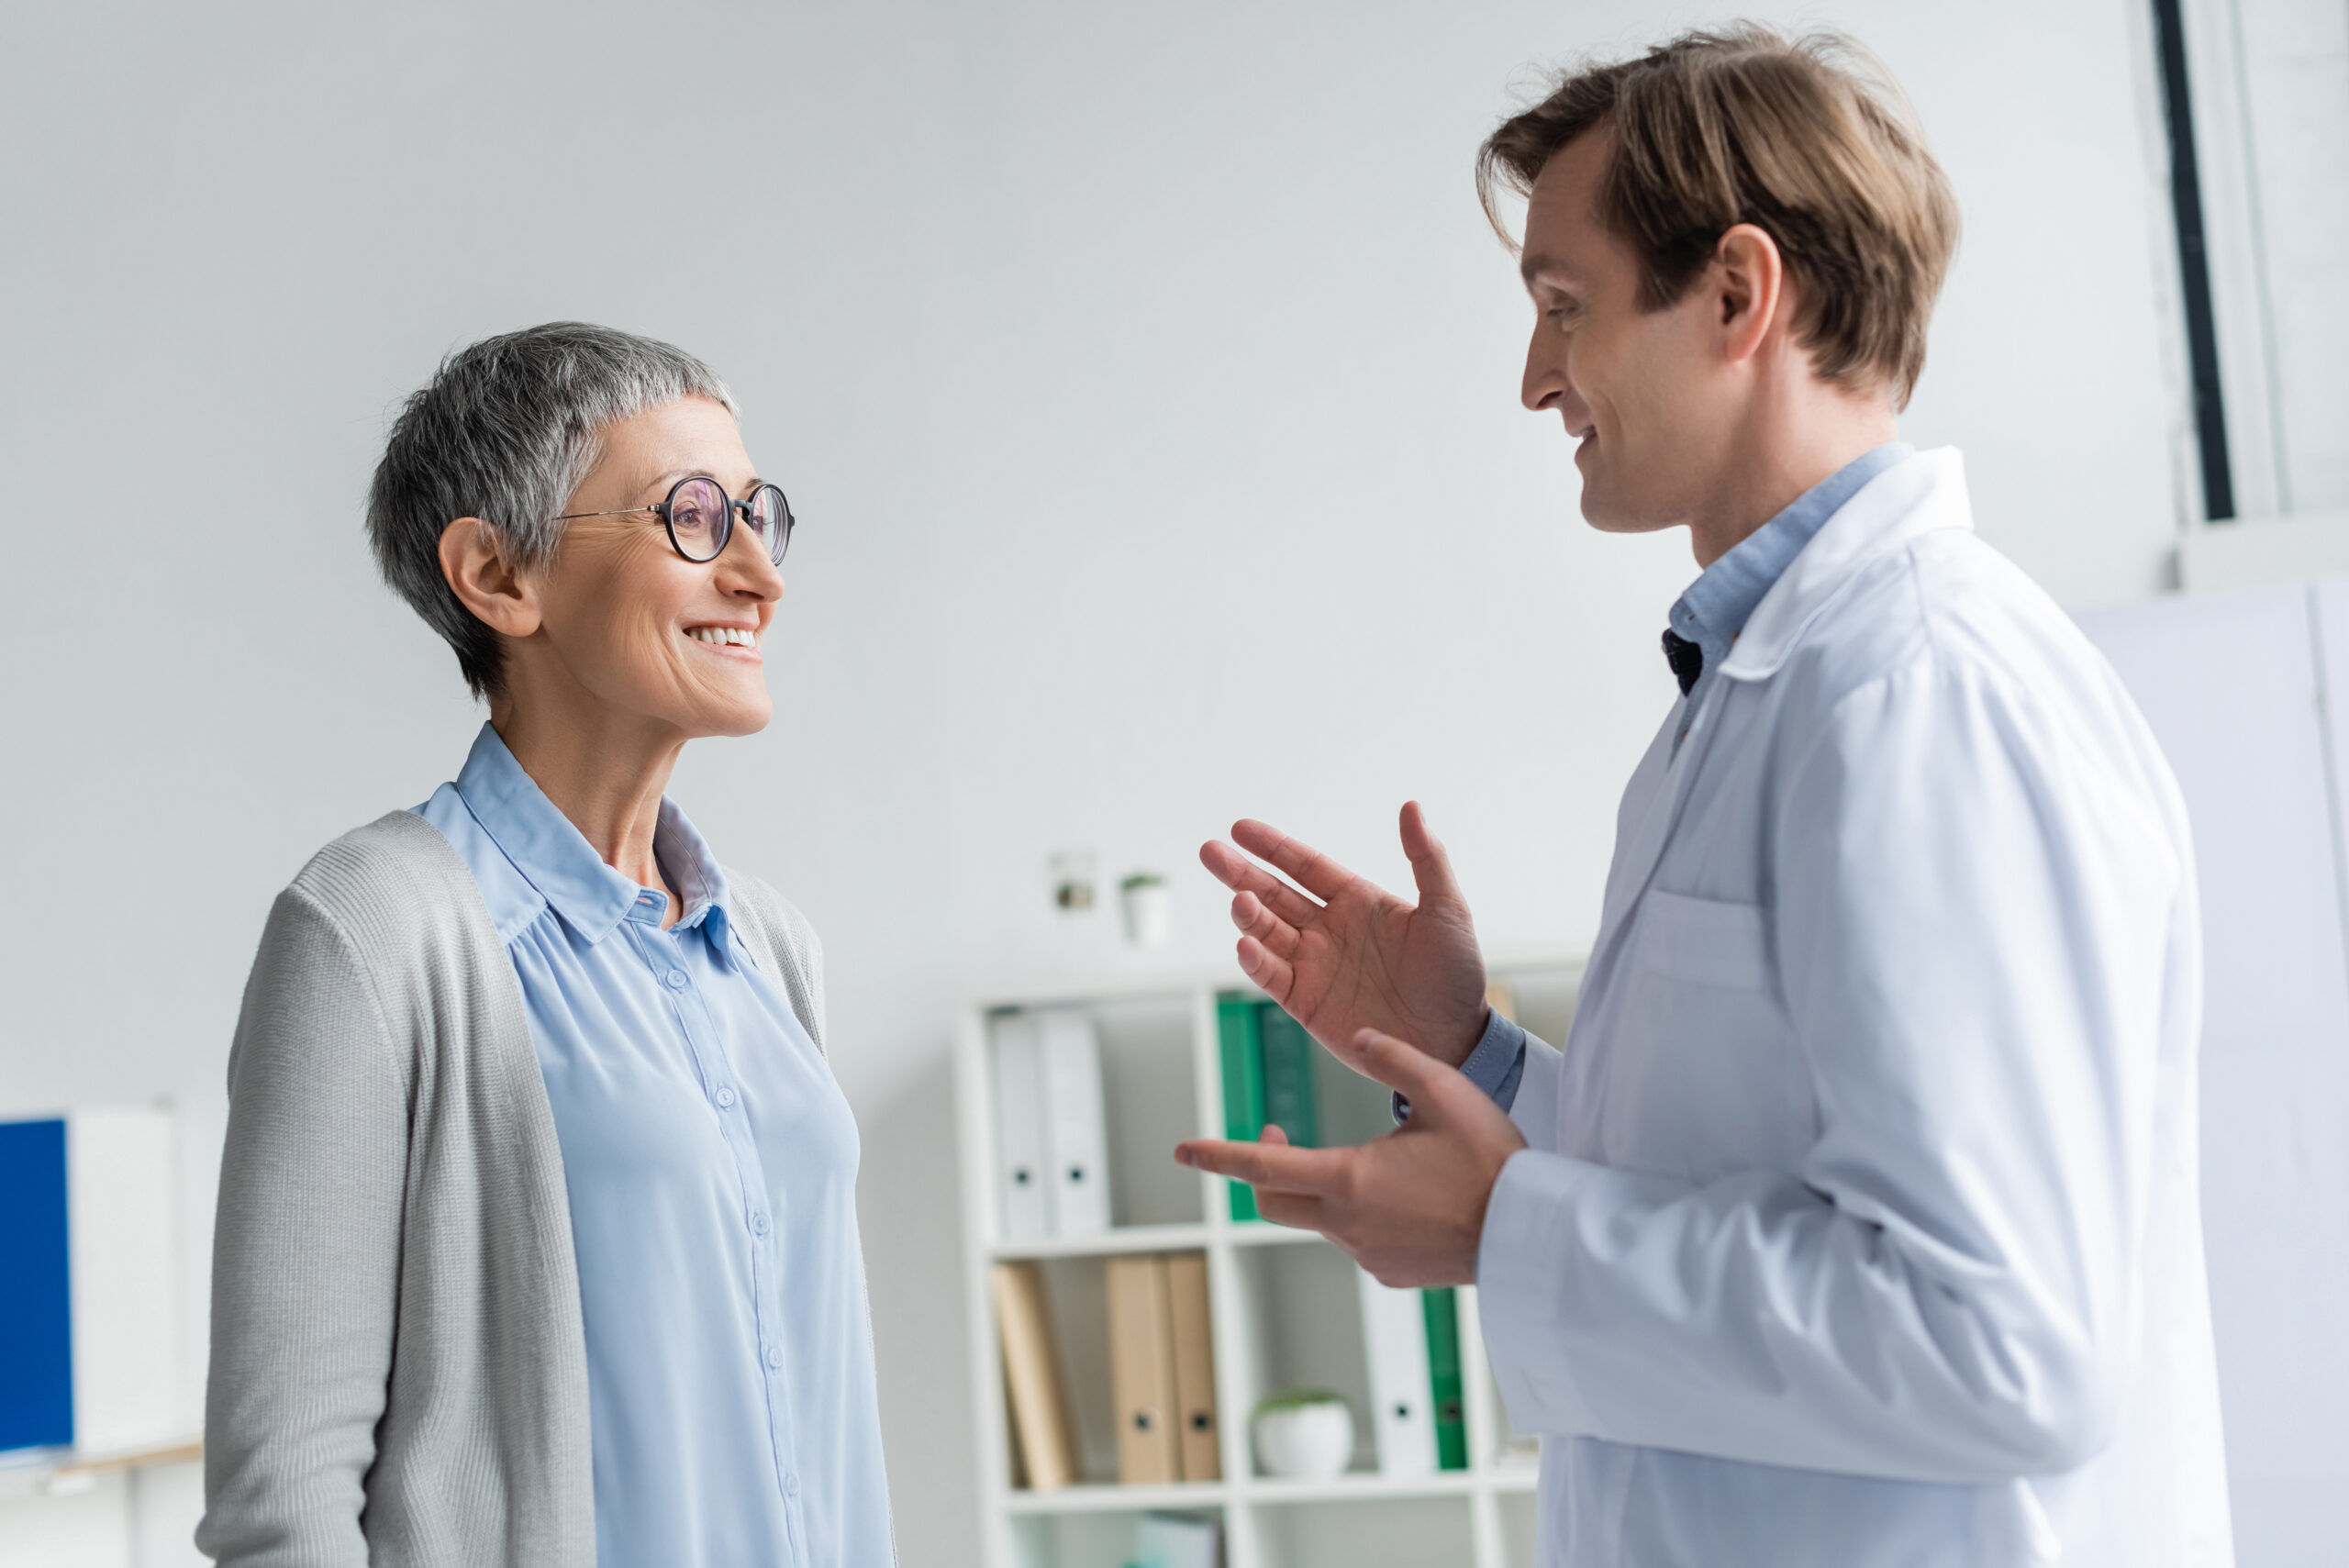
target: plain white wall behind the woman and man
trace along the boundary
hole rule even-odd
[[[14,7],[0,1113],[171,1096],[200,1265],[268,899],[477,723],[362,549],[390,406],[526,322],[674,338],[806,519],[778,723],[674,793],[824,930],[902,1556],[954,1561],[949,1005],[1139,962],[1045,908],[1050,850],[1174,871],[1151,962],[1196,967],[1226,951],[1198,838],[1257,812],[1400,878],[1416,793],[1489,944],[1595,922],[1694,568],[1576,521],[1468,167],[1529,66],[1708,14]],[[1966,204],[1910,437],[1966,448],[1983,530],[2067,603],[2156,589],[2138,7],[1820,14]]]

